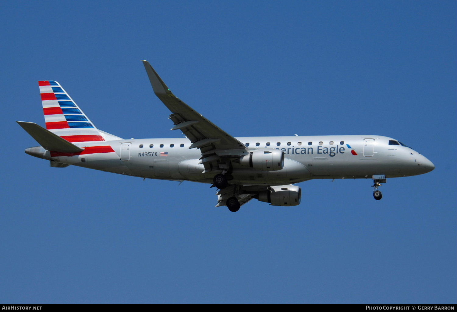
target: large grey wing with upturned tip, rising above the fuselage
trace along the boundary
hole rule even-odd
[[[205,172],[218,170],[216,165],[221,157],[238,157],[247,153],[243,143],[178,99],[148,61],[143,61],[143,65],[155,95],[171,111],[170,119],[175,124],[171,130],[181,130],[192,142],[189,148],[200,149],[200,162],[205,166]]]

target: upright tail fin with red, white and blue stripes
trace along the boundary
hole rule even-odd
[[[38,85],[47,130],[69,142],[122,139],[98,130],[57,81],[38,81]]]

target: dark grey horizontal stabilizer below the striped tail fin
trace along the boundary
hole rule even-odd
[[[60,136],[44,129],[40,125],[28,121],[16,121],[29,135],[34,138],[39,145],[48,151],[58,151],[63,153],[77,153],[84,149],[75,146]]]

